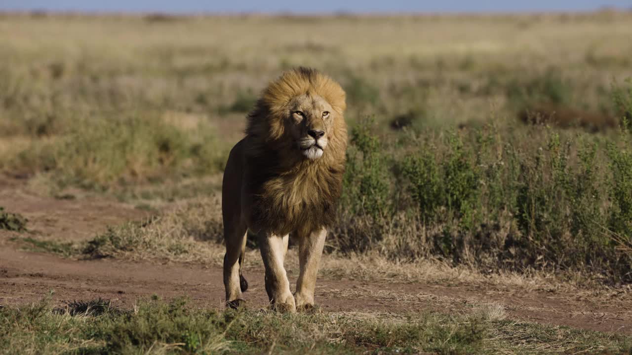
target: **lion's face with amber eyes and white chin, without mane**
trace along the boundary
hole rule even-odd
[[[288,131],[296,142],[296,149],[307,159],[322,157],[327,149],[327,133],[336,119],[336,111],[322,97],[305,93],[289,104]]]

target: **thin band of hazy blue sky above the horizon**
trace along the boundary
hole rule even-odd
[[[0,0],[0,10],[133,11],[167,13],[514,12],[632,8],[632,0]]]

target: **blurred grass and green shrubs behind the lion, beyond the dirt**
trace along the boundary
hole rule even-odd
[[[631,282],[631,21],[4,14],[0,171],[144,207],[217,194],[258,92],[313,66],[351,127],[329,252]]]

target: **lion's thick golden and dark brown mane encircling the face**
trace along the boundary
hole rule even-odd
[[[286,132],[287,105],[298,95],[312,93],[336,112],[329,143],[322,157],[296,154]],[[314,69],[298,68],[270,83],[248,115],[246,127],[246,192],[252,196],[251,228],[285,235],[331,226],[341,194],[347,143],[343,112],[344,90]]]

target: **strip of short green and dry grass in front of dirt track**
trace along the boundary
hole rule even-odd
[[[90,303],[91,301],[78,304]],[[499,316],[500,315],[500,316]],[[625,353],[630,339],[502,320],[498,308],[468,314],[312,313],[191,308],[140,301],[133,310],[51,310],[46,303],[0,309],[0,352],[25,354],[269,353],[545,354]]]

